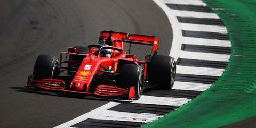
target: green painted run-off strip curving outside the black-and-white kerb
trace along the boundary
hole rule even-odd
[[[202,95],[143,128],[219,127],[256,115],[256,1],[203,1],[228,29],[227,69]]]

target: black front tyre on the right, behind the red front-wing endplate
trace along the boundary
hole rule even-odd
[[[139,99],[142,95],[144,84],[143,69],[139,65],[124,65],[119,84],[121,87],[130,88],[135,86],[135,99]]]

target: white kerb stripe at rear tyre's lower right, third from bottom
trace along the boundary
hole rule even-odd
[[[172,89],[190,90],[190,91],[205,91],[206,89],[210,88],[211,86],[212,86],[212,84],[175,81]]]

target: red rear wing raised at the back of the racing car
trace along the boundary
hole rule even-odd
[[[117,31],[103,30],[100,32],[99,44],[113,45],[124,50],[123,42],[153,46],[151,52],[156,55],[159,40],[155,36],[130,34]],[[129,48],[130,53],[130,48]]]

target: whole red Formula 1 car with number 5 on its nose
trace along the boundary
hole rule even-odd
[[[69,47],[60,61],[39,55],[26,87],[61,90],[106,97],[139,99],[142,91],[171,89],[175,81],[173,57],[156,55],[159,40],[154,36],[101,31],[99,44]],[[124,52],[124,44],[150,45],[152,50],[139,61]]]

